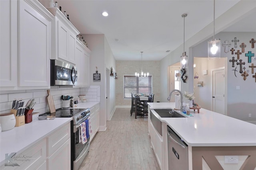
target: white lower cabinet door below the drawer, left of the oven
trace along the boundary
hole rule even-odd
[[[71,144],[70,138],[48,158],[47,170],[71,169]]]

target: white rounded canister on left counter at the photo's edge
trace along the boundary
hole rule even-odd
[[[0,124],[2,131],[8,131],[14,128],[16,119],[13,113],[4,113],[0,115]]]

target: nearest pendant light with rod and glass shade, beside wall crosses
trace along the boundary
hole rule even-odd
[[[213,39],[208,41],[208,59],[220,59],[220,39],[215,39],[215,0],[213,2]]]

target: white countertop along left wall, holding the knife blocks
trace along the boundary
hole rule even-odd
[[[72,118],[56,118],[53,120],[33,120],[31,123],[14,127],[0,133],[0,164],[4,163],[5,154],[17,154],[28,149],[51,132],[66,125]]]

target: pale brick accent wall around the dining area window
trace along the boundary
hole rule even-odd
[[[130,106],[131,100],[124,99],[124,75],[135,75],[141,72],[141,61],[116,61],[116,106]],[[143,61],[143,72],[152,75],[152,93],[154,102],[160,100],[160,61]],[[110,87],[111,88],[111,87]]]

